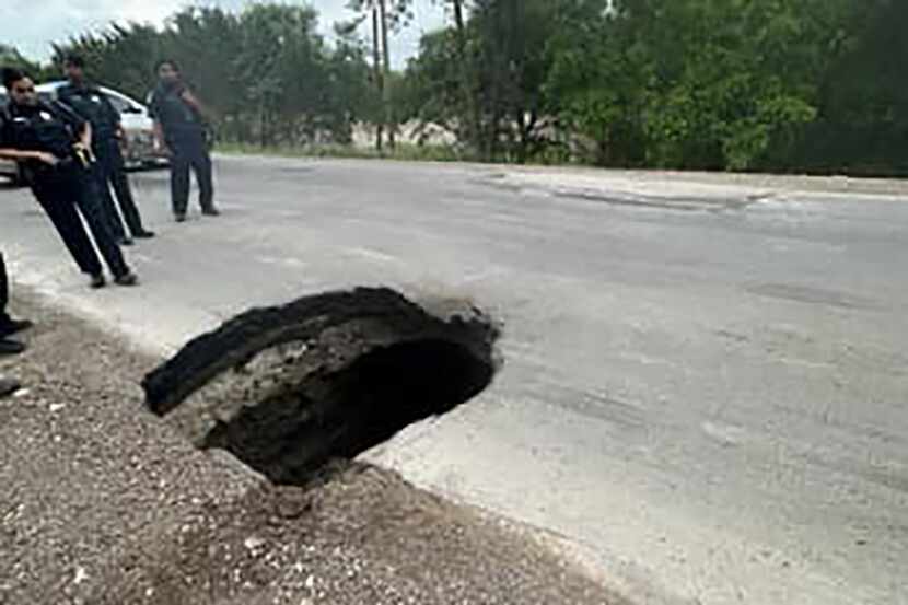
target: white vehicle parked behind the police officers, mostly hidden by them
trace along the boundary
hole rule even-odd
[[[40,84],[37,86],[38,96],[45,101],[55,100],[57,97],[57,90],[63,84],[66,82],[62,81]],[[128,143],[125,153],[126,166],[128,168],[138,168],[166,163],[166,160],[154,152],[153,124],[148,115],[148,107],[120,92],[104,86],[101,90],[107,95],[110,103],[120,114]],[[8,102],[7,91],[0,88],[0,108],[5,107]],[[0,176],[19,182],[19,166],[16,166],[15,162],[0,160]]]

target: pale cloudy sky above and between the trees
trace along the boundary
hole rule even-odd
[[[352,15],[345,8],[347,0],[283,1],[313,5],[321,14],[322,32],[327,35],[335,21]],[[103,28],[112,21],[160,25],[167,15],[188,5],[236,10],[247,3],[249,0],[0,0],[0,43],[15,46],[31,59],[47,60],[53,42]],[[392,58],[398,68],[416,54],[420,36],[441,26],[444,20],[444,10],[431,0],[416,0],[415,12],[414,23],[392,40]]]

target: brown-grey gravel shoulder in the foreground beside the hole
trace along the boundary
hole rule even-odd
[[[160,360],[20,290],[37,327],[0,361],[0,603],[617,604],[548,538],[335,463],[275,486],[148,414]],[[540,488],[542,489],[542,488]]]

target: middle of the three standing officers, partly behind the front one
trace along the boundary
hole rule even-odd
[[[92,150],[97,162],[95,173],[98,183],[98,193],[103,209],[107,214],[118,243],[129,245],[132,241],[127,236],[120,214],[110,196],[110,186],[114,187],[119,201],[123,218],[129,226],[132,237],[153,237],[154,233],[142,226],[142,218],[132,191],[129,179],[126,177],[125,163],[120,144],[126,141],[120,124],[119,113],[114,108],[110,100],[101,89],[85,80],[85,61],[78,55],[70,55],[63,62],[69,83],[57,90],[59,101],[75,112],[82,119],[92,125]]]

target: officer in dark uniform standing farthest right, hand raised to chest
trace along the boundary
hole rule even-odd
[[[151,117],[159,147],[171,158],[171,200],[177,222],[186,220],[189,203],[189,168],[199,185],[202,214],[217,217],[211,156],[208,153],[202,106],[189,92],[172,60],[160,61],[154,68],[158,85],[150,93]]]

